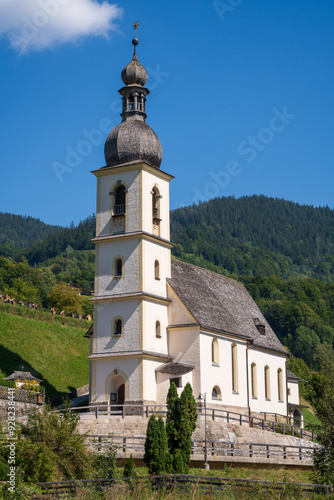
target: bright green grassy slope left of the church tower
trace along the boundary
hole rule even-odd
[[[0,369],[32,371],[53,398],[89,380],[85,329],[65,327],[0,312]]]

